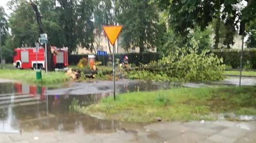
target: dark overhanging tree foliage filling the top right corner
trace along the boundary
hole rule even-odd
[[[243,29],[245,22],[255,16],[254,0],[210,0],[210,1],[191,1],[191,0],[156,0],[159,7],[169,12],[169,24],[176,33],[187,36],[190,29],[200,26],[201,30],[214,18],[219,18],[225,22],[227,29],[225,45],[230,47],[234,44],[234,35],[238,29]],[[242,2],[247,2],[247,6],[241,6]],[[220,6],[223,8],[220,14]],[[218,20],[219,23],[220,20]],[[241,26],[240,28],[238,26]],[[219,24],[217,24],[219,26]],[[215,46],[219,43],[219,28],[215,28]],[[243,30],[242,30],[243,31]]]

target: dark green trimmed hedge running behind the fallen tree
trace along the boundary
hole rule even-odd
[[[223,63],[231,66],[233,69],[239,68],[241,50],[238,49],[218,49],[212,50],[211,53],[214,53],[218,57],[223,58]],[[107,56],[96,56],[96,60],[102,62],[103,58],[104,63],[107,65],[108,61],[111,61],[112,55]],[[115,60],[118,58],[120,63],[122,63],[124,56],[129,57],[129,63],[139,65],[148,64],[150,61],[158,61],[160,58],[159,53],[127,53],[127,54],[116,54]],[[82,57],[88,57],[88,55],[69,55],[69,64],[77,64]],[[245,48],[243,56],[243,65],[244,68],[256,69],[256,48]]]

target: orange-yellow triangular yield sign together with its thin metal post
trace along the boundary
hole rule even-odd
[[[121,33],[123,26],[104,26],[103,30],[105,31],[108,40],[113,46],[113,82],[114,82],[114,100],[116,99],[116,76],[115,76],[115,41]]]

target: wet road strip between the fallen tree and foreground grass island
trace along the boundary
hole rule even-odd
[[[116,92],[129,91],[152,91],[158,89],[170,89],[175,87],[213,87],[213,86],[238,86],[239,78],[230,77],[223,81],[212,82],[190,82],[190,83],[167,83],[167,82],[153,82],[153,81],[138,81],[122,79],[116,81]],[[256,85],[256,78],[242,78],[241,85],[254,86]],[[71,83],[69,88],[60,88],[49,90],[48,95],[86,95],[86,94],[101,94],[113,93],[113,81],[95,81],[95,82],[76,82]]]

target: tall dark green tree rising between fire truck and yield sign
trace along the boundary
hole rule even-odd
[[[78,45],[93,49],[94,37],[92,13],[93,1],[57,0],[60,12],[59,26],[63,29],[63,45],[69,47],[69,53],[76,51]]]

